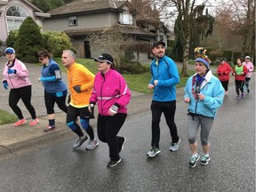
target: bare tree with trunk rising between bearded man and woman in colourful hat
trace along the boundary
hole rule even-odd
[[[206,3],[204,1],[202,4]],[[152,4],[158,7],[159,12],[162,12],[162,17],[168,20],[173,15],[177,15],[177,19],[175,21],[175,38],[176,35],[180,36],[180,41],[178,44],[174,44],[175,47],[181,47],[182,50],[182,61],[183,66],[181,70],[181,76],[188,76],[188,58],[189,58],[189,49],[191,41],[191,32],[195,29],[196,18],[198,16],[202,16],[203,10],[202,7],[196,5],[196,0],[152,0]],[[204,23],[209,22],[209,18],[204,20]],[[203,25],[202,25],[203,26]],[[198,27],[200,28],[200,26]],[[211,28],[212,30],[212,25]],[[178,31],[177,31],[178,30]],[[207,36],[209,33],[201,30],[201,33],[204,33]],[[200,34],[198,34],[200,35]],[[174,41],[175,43],[175,41]],[[198,44],[192,44],[193,46],[198,46]],[[175,47],[173,49],[175,49]],[[193,49],[195,48],[193,47]],[[191,50],[191,49],[190,49]]]

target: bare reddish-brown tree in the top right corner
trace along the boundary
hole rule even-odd
[[[216,14],[217,23],[221,27],[222,41],[225,44],[238,45],[238,51],[241,51],[242,57],[245,52],[250,52],[254,58],[255,2],[253,0],[232,0],[221,4],[216,9]]]

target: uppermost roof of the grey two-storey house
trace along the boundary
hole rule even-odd
[[[62,15],[68,14],[85,14],[92,12],[122,12],[122,8],[124,4],[128,4],[129,7],[132,5],[127,1],[109,1],[109,0],[75,0],[69,4],[64,4],[48,13],[51,14],[52,17],[58,17]]]

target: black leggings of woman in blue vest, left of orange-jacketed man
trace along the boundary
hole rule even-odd
[[[49,94],[48,92],[44,92],[44,103],[47,110],[47,114],[54,114],[54,104],[57,103],[58,107],[67,113],[68,107],[66,105],[66,96],[63,95],[62,97],[56,97],[52,94]]]

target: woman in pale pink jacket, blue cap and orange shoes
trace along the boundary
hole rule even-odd
[[[31,105],[31,83],[28,80],[28,70],[20,60],[15,58],[15,51],[12,47],[7,47],[5,53],[8,62],[4,65],[4,79],[2,82],[5,90],[10,86],[9,106],[19,118],[19,121],[13,125],[20,126],[27,122],[20,108],[17,106],[20,99],[32,116],[30,125],[36,125],[39,123],[39,120],[36,118],[35,108]]]

